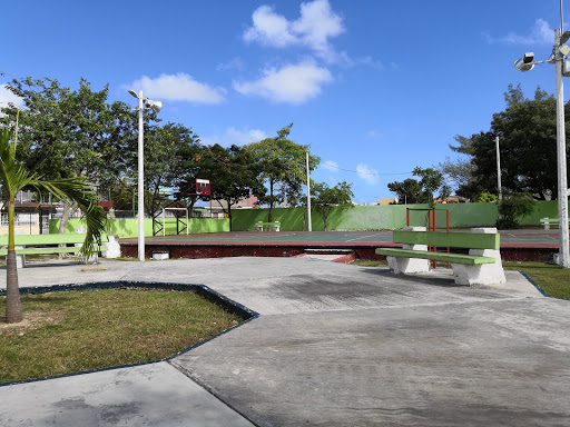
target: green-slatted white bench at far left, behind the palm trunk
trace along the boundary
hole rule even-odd
[[[26,255],[41,254],[73,254],[79,252],[85,241],[85,235],[17,235],[14,236],[16,258],[18,268],[26,266]],[[107,235],[101,236],[101,244],[108,242]],[[73,245],[71,247],[59,247],[58,245]],[[8,236],[0,236],[0,256],[8,254]],[[107,250],[105,245],[98,246],[94,258],[89,261],[97,261],[97,252]]]

